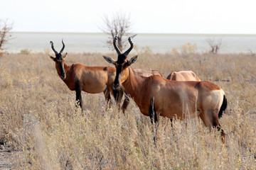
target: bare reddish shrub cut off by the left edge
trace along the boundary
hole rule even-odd
[[[7,23],[7,20],[0,20],[0,57],[4,55],[4,44],[11,38],[11,34],[9,34],[11,29],[12,24]]]

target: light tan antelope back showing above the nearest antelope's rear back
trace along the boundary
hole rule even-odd
[[[201,81],[192,71],[171,72],[166,79],[173,81]]]

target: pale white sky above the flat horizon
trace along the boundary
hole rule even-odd
[[[101,33],[103,16],[130,14],[134,33],[256,34],[255,0],[1,0],[13,31]]]

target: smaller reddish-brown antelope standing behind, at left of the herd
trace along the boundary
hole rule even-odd
[[[53,42],[50,41],[55,57],[49,56],[55,62],[55,67],[60,79],[65,82],[71,91],[75,91],[75,99],[79,102],[80,107],[82,108],[81,91],[85,91],[89,94],[98,94],[103,92],[105,100],[108,104],[110,103],[110,105],[112,104],[110,94],[112,94],[119,105],[123,91],[113,91],[112,89],[115,69],[113,67],[87,67],[79,63],[72,65],[65,64],[64,59],[68,53],[62,55],[65,48],[63,40],[62,43],[62,49],[60,52],[57,52],[53,47]],[[121,98],[117,99],[117,94]]]

